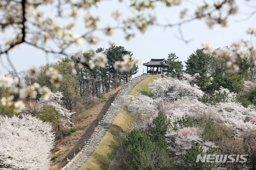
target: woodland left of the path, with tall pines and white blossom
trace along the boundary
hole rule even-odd
[[[108,62],[104,63],[105,67],[79,68],[81,58],[90,61],[96,54],[106,55]],[[8,72],[0,86],[0,141],[4,146],[0,147],[0,168],[47,170],[53,159],[51,149],[78,130],[72,116],[106,101],[105,93],[118,88],[138,72],[136,64],[132,64],[128,71],[120,72],[114,68],[114,63],[124,61],[124,56],[133,60],[132,52],[122,46],[112,46],[105,50],[98,48],[70,54],[69,58],[60,58],[58,62],[18,74]],[[31,70],[36,70],[33,76]],[[41,91],[39,87],[49,90]],[[49,94],[45,95],[46,92]],[[31,150],[33,154],[29,154]],[[21,159],[23,157],[26,159]]]

